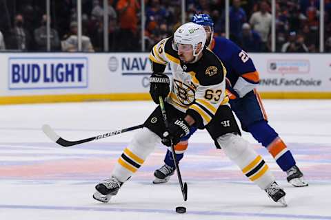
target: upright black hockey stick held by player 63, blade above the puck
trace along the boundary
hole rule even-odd
[[[159,102],[160,102],[161,113],[163,116],[163,121],[165,124],[165,129],[168,129],[169,123],[168,123],[167,115],[165,114],[165,107],[161,96],[159,96]],[[176,153],[174,152],[174,144],[172,144],[172,139],[170,139],[170,143],[171,143],[172,159],[174,159],[174,166],[176,167],[177,170],[179,185],[181,185],[181,194],[183,195],[184,201],[186,201],[188,199],[188,184],[186,184],[185,182],[183,184],[183,180],[181,179],[181,171],[179,170],[177,156]]]

